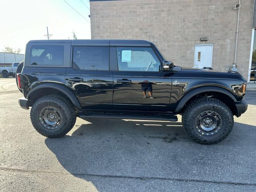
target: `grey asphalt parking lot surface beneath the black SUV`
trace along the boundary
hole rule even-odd
[[[178,122],[77,118],[63,138],[41,136],[0,78],[0,191],[255,191],[256,92],[226,140],[188,138]]]

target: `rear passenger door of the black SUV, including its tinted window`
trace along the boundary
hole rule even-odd
[[[66,85],[74,90],[83,109],[112,108],[109,49],[109,46],[72,47],[72,68],[66,70]]]

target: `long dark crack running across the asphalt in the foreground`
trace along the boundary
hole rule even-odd
[[[208,180],[198,180],[198,179],[182,179],[182,178],[164,178],[164,177],[140,177],[140,176],[117,176],[117,175],[101,175],[101,174],[89,174],[89,173],[63,173],[54,171],[37,171],[37,170],[25,170],[16,168],[5,168],[0,167],[2,171],[10,172],[28,172],[28,173],[48,173],[48,174],[62,174],[62,175],[74,175],[74,176],[95,176],[103,178],[128,178],[128,179],[158,179],[158,180],[172,180],[172,181],[184,181],[184,182],[204,182],[204,183],[215,183],[215,184],[229,184],[229,185],[240,185],[240,186],[256,186],[256,183],[242,183],[242,182],[224,182],[224,181],[208,181]]]

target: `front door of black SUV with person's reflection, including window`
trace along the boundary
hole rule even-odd
[[[161,61],[154,49],[116,47],[116,58],[113,107],[118,110],[168,111],[172,77],[169,71],[161,71]]]

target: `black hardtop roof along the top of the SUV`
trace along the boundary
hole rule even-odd
[[[71,43],[72,46],[150,46],[146,40],[31,40],[28,43]]]

